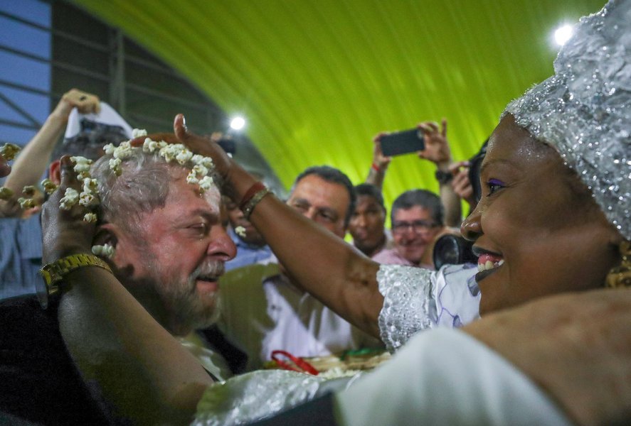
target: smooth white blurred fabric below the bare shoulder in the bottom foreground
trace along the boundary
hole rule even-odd
[[[340,426],[571,425],[521,371],[457,329],[416,335],[334,401]]]

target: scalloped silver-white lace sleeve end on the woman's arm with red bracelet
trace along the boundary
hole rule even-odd
[[[433,297],[435,274],[425,268],[381,265],[377,273],[383,307],[379,313],[381,340],[394,352],[420,330],[436,324]]]

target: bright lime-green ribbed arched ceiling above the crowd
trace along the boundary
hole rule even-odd
[[[604,0],[75,0],[189,77],[289,187],[309,165],[366,177],[372,138],[446,117],[470,158],[504,106],[552,73],[551,33]],[[186,113],[186,111],[183,111]],[[438,190],[395,158],[384,195]]]

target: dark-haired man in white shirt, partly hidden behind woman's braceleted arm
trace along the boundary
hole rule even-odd
[[[298,176],[287,204],[344,238],[355,198],[344,173],[318,166]],[[219,328],[248,355],[248,369],[263,366],[274,350],[295,356],[324,356],[383,347],[297,288],[277,263],[230,271],[221,278],[221,297]]]

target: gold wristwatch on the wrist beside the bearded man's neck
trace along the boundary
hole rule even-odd
[[[71,254],[53,263],[48,263],[39,270],[43,279],[36,281],[36,295],[40,305],[46,309],[49,298],[60,294],[60,285],[63,282],[63,277],[67,273],[84,266],[97,266],[112,272],[112,269],[105,261],[93,254]]]

